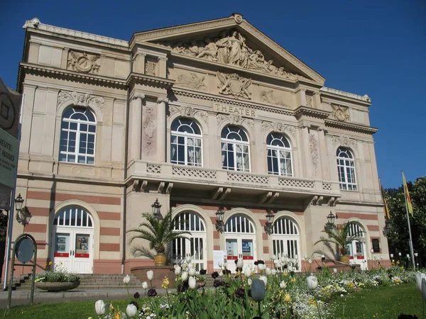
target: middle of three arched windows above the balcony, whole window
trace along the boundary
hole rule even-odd
[[[228,125],[222,130],[222,168],[250,172],[249,138],[238,126]]]

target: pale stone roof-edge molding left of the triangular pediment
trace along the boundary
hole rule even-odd
[[[41,23],[38,18],[32,18],[31,20],[27,20],[25,24],[22,27],[23,29],[35,29],[35,30],[42,30],[47,31],[50,33],[56,33],[60,35],[68,35],[70,37],[74,38],[80,38],[84,40],[92,40],[100,43],[107,43],[109,45],[118,45],[120,47],[129,47],[129,42],[109,37],[104,37],[103,35],[96,35],[93,33],[87,33],[77,30],[71,30],[67,28],[60,28],[57,26],[50,26],[48,24]]]

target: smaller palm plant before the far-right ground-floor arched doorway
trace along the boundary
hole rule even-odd
[[[349,262],[349,252],[346,246],[354,240],[359,240],[362,235],[361,231],[351,234],[350,229],[351,223],[346,222],[337,228],[322,230],[322,233],[326,233],[327,237],[321,236],[320,240],[315,242],[314,245],[323,242],[329,252],[332,253],[334,260],[339,259],[340,262]]]

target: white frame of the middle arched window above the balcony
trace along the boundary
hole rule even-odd
[[[224,130],[228,130],[228,133],[226,133],[226,136],[229,136],[229,134],[234,133],[239,136],[240,140],[236,140],[235,138],[224,138]],[[241,134],[242,133],[242,134]],[[244,140],[244,138],[246,140]],[[231,145],[231,149],[228,149],[228,146]],[[241,152],[238,152],[236,149],[237,147],[241,148]],[[247,147],[247,152],[244,152],[244,147]],[[226,154],[227,162],[224,162],[224,153]],[[228,155],[231,154],[234,159],[234,167],[229,166],[229,157]],[[237,155],[241,154],[241,164],[242,167],[238,167],[237,165]],[[250,162],[250,141],[249,136],[247,133],[238,126],[235,125],[226,125],[222,129],[221,134],[221,155],[222,155],[222,169],[226,169],[229,171],[239,171],[239,172],[251,172],[251,162]],[[244,155],[248,157],[247,165],[244,163]],[[248,166],[248,167],[246,167]]]

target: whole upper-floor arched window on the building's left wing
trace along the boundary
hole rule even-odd
[[[96,119],[87,108],[72,106],[62,115],[60,162],[94,164]]]

